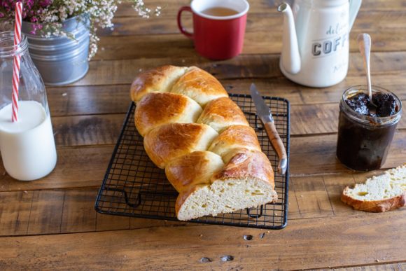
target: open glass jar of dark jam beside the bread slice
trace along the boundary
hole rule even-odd
[[[356,85],[339,103],[337,158],[350,169],[379,169],[386,160],[396,125],[402,116],[400,99],[372,85],[370,104],[367,86]]]

